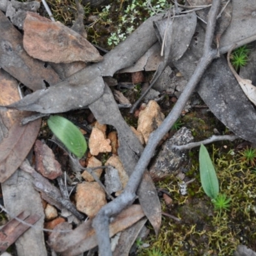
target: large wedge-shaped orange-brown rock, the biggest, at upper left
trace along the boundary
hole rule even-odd
[[[103,60],[97,49],[79,33],[33,12],[27,12],[24,21],[23,46],[31,57],[42,61],[71,63]]]

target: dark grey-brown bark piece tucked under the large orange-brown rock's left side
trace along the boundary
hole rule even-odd
[[[28,56],[22,46],[22,35],[0,12],[0,67],[31,90],[60,82],[58,75],[45,63]]]

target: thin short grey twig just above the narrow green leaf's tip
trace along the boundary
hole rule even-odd
[[[209,138],[207,140],[192,142],[192,143],[188,143],[186,145],[180,145],[180,146],[172,145],[172,148],[177,148],[179,150],[188,150],[188,149],[191,149],[191,148],[199,147],[201,144],[205,145],[205,144],[212,143],[214,141],[221,141],[221,140],[233,141],[233,140],[236,140],[238,138],[239,137],[236,136],[236,135],[220,135],[220,136],[213,135],[213,136],[211,136],[211,138]]]

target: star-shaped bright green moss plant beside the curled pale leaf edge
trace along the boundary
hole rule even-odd
[[[230,61],[236,70],[239,70],[239,68],[244,67],[247,64],[249,52],[250,50],[247,45],[243,45],[232,52]]]

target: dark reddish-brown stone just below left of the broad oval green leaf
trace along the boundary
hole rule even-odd
[[[40,140],[35,142],[35,156],[35,169],[44,177],[52,180],[62,175],[61,165],[55,160],[51,148]]]

